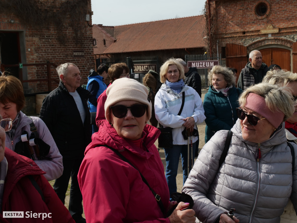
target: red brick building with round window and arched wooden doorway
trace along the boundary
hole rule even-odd
[[[252,50],[268,66],[297,72],[297,1],[208,0],[206,6],[208,49],[238,76]]]

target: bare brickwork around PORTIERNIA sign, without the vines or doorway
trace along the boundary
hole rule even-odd
[[[55,12],[59,12],[62,4],[67,2],[73,3],[75,1],[76,0],[43,0],[40,1],[42,4],[40,7],[45,7],[45,9],[50,8]],[[87,4],[86,11],[80,12],[81,18],[83,19],[79,21],[79,30],[72,28],[73,26],[70,18],[61,21],[61,24],[63,24],[61,29],[57,28],[57,26],[52,22],[49,22],[49,24],[45,26],[37,27],[34,26],[34,24],[27,25],[26,22],[18,18],[16,15],[17,13],[12,13],[12,11],[6,10],[1,13],[0,32],[19,32],[20,35],[24,36],[23,39],[20,38],[20,51],[23,50],[25,52],[22,61],[20,61],[21,63],[35,64],[46,63],[49,61],[59,65],[65,62],[72,62],[80,69],[82,77],[81,84],[86,84],[89,70],[94,68],[94,57],[92,27],[88,25],[87,21],[85,21],[86,14],[88,14],[90,15],[89,24],[92,24],[91,3],[90,1],[85,1],[85,4]],[[59,13],[57,13],[57,15],[58,14]],[[11,18],[15,20],[15,23],[9,22]],[[79,34],[78,38],[75,37],[75,31]],[[61,39],[63,39],[64,42],[61,41]],[[73,51],[84,51],[84,56],[74,57]],[[47,78],[47,67],[44,65],[24,67],[23,69],[27,70],[27,72],[25,72],[27,73],[27,76],[25,76],[24,79],[32,80]],[[51,66],[50,71],[52,78],[59,80],[54,66]],[[52,85],[52,89],[58,86],[55,81],[52,81]],[[31,82],[28,83],[28,89],[31,90],[29,91],[30,93],[44,92],[48,91],[48,84],[47,81]]]

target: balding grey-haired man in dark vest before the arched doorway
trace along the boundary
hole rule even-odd
[[[241,70],[237,81],[237,87],[244,90],[253,84],[258,84],[266,75],[268,67],[262,63],[262,54],[258,50],[249,53],[249,62]]]

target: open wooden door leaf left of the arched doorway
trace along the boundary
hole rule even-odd
[[[231,43],[226,44],[226,66],[236,68],[236,83],[242,68],[245,67],[248,61],[247,48],[245,46]]]

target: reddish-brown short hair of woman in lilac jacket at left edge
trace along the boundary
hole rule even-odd
[[[25,106],[22,83],[15,76],[5,76],[5,72],[0,76],[0,102],[2,104],[15,103],[18,112]]]

